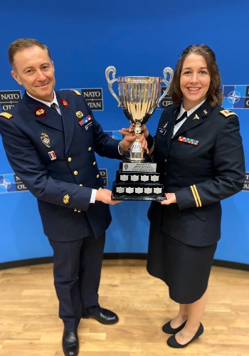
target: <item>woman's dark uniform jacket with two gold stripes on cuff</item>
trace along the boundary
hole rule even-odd
[[[243,188],[245,163],[238,117],[205,101],[173,138],[179,105],[165,108],[157,134],[148,137],[149,154],[164,176],[164,192],[176,204],[153,201],[148,217],[154,229],[193,246],[221,237],[221,199]]]

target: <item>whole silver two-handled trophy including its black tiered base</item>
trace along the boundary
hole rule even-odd
[[[112,73],[112,79],[110,79]],[[115,78],[116,68],[113,66],[105,70],[108,88],[121,106],[124,115],[134,125],[136,140],[133,142],[127,156],[120,164],[116,180],[112,186],[113,200],[164,200],[164,184],[161,183],[160,174],[157,172],[157,163],[146,156],[139,138],[143,125],[149,120],[159,102],[169,91],[173,78],[173,70],[164,68],[164,78],[159,77],[118,77]],[[169,74],[169,80],[167,75]],[[112,84],[117,81],[119,98],[112,89]],[[166,90],[160,97],[161,83],[166,85]]]

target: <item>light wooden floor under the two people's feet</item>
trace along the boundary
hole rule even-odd
[[[63,356],[63,323],[52,264],[0,271],[0,355]],[[81,320],[83,356],[249,356],[249,273],[213,267],[205,332],[183,350],[166,345],[161,325],[176,314],[163,282],[146,261],[104,260],[100,304],[120,317],[116,325]]]

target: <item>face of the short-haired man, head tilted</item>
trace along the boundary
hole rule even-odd
[[[11,74],[34,98],[49,103],[53,101],[55,69],[43,48],[32,46],[16,52]]]

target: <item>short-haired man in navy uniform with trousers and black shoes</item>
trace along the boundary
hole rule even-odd
[[[111,221],[108,204],[119,201],[102,189],[95,152],[121,159],[135,137],[113,140],[78,91],[54,91],[53,61],[43,43],[18,39],[9,47],[9,61],[13,78],[26,92],[10,112],[0,114],[0,132],[11,167],[38,199],[53,248],[63,351],[73,356],[79,349],[80,318],[118,321],[98,304],[105,230]]]

